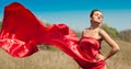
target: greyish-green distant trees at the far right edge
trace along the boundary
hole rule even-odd
[[[131,42],[131,30],[124,30],[119,32],[120,39]]]

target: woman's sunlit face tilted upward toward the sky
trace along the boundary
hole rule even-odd
[[[99,11],[95,11],[91,16],[91,21],[94,23],[102,23],[103,22],[103,13]]]

